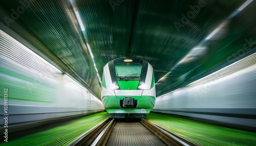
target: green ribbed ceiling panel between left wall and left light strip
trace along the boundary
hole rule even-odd
[[[65,3],[61,1],[26,1],[24,5],[19,1],[1,1],[1,6],[14,16],[12,19],[16,18],[100,96],[100,85],[90,54],[79,42],[79,34],[69,18],[67,7],[63,5]],[[21,7],[25,8],[23,13],[19,13]]]

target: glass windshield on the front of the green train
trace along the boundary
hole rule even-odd
[[[142,64],[120,63],[115,64],[117,77],[140,77]]]

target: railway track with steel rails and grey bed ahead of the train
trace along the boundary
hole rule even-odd
[[[196,145],[144,119],[109,118],[69,145]]]

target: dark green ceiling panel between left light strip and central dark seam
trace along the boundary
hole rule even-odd
[[[110,1],[73,1],[84,24],[87,43],[102,76],[109,61],[127,56],[133,26],[135,1],[112,5]],[[117,3],[117,2],[116,2]]]

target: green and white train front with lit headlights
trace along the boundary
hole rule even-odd
[[[153,67],[131,57],[114,59],[103,68],[101,100],[109,113],[150,113],[156,101]]]

